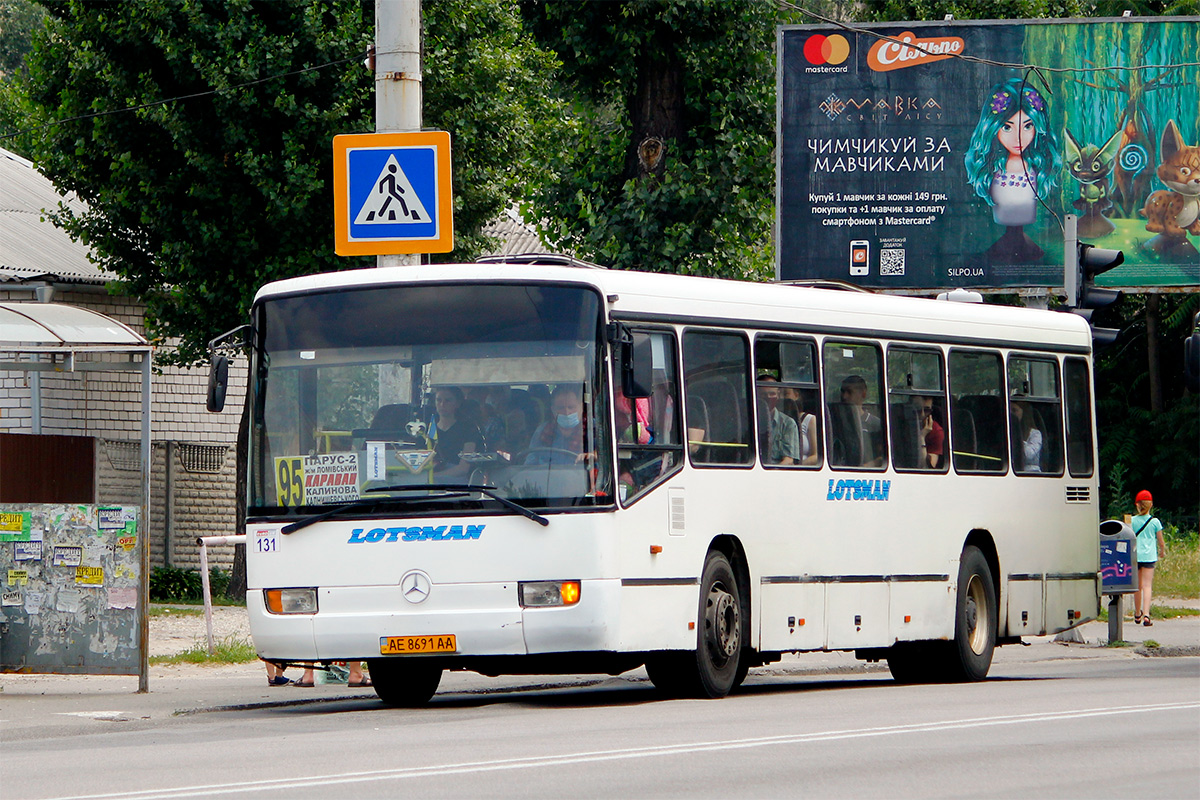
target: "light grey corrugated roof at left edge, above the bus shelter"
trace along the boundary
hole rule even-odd
[[[96,284],[110,279],[88,260],[86,246],[43,219],[44,211],[60,201],[74,211],[88,207],[74,196],[59,194],[32,163],[0,149],[0,282],[44,278]]]

